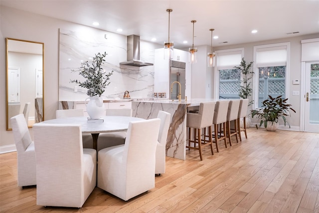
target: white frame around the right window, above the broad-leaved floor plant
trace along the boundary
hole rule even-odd
[[[257,67],[257,51],[258,49],[266,49],[266,48],[273,48],[276,49],[280,46],[286,46],[287,49],[287,61],[286,61],[286,73],[285,73],[285,95],[289,97],[289,82],[290,82],[290,42],[283,42],[283,43],[275,43],[275,44],[266,44],[266,45],[258,45],[254,46],[254,56],[253,56],[253,70],[254,70],[254,77],[253,77],[253,100],[254,104],[252,105],[252,109],[260,108],[258,106],[259,100],[259,69]],[[267,64],[267,66],[278,66],[278,64]],[[289,103],[289,99],[287,101]]]

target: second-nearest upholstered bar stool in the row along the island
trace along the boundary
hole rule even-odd
[[[219,152],[218,149],[218,141],[224,140],[225,146],[227,147],[226,143],[226,121],[227,121],[227,111],[228,111],[228,104],[229,101],[217,101],[214,111],[214,118],[213,118],[213,125],[214,125],[214,139],[213,143],[216,144],[216,150]],[[223,126],[224,134],[218,135],[218,125]],[[221,128],[220,128],[221,131]]]

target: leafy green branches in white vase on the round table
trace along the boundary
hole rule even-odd
[[[104,104],[101,95],[105,91],[106,86],[110,84],[108,80],[113,74],[113,70],[106,74],[106,71],[102,68],[106,55],[106,52],[95,54],[92,64],[85,61],[81,63],[80,68],[72,70],[73,72],[79,72],[79,75],[85,78],[85,81],[71,80],[70,82],[77,83],[80,87],[87,89],[86,94],[89,96],[87,99],[90,99],[90,101],[86,104],[86,107],[91,119],[99,119],[104,115]]]

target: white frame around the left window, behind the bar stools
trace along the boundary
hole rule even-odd
[[[235,48],[235,49],[223,49],[223,50],[216,50],[215,51],[215,54],[216,54],[216,60],[217,60],[217,57],[219,54],[221,55],[232,55],[232,54],[235,54],[235,53],[239,53],[241,54],[241,58],[240,58],[240,61],[241,59],[244,57],[245,55],[245,48],[244,47],[241,47],[241,48]],[[235,64],[234,66],[239,66],[240,65],[240,62],[238,64]],[[234,67],[225,67],[225,69],[234,69]],[[242,75],[240,74],[241,78],[242,78]],[[213,93],[213,98],[214,99],[219,99],[219,70],[218,70],[218,60],[217,62],[215,63],[215,66],[214,66],[214,93]],[[239,91],[238,91],[239,92]]]

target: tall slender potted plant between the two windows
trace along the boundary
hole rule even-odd
[[[243,79],[240,80],[240,87],[239,87],[239,93],[238,96],[242,99],[246,99],[251,97],[253,89],[250,87],[251,81],[250,79],[252,78],[252,75],[254,74],[253,71],[251,71],[251,66],[253,65],[253,61],[247,63],[244,58],[241,59],[240,65],[239,66],[234,66],[234,68],[239,69]],[[252,105],[254,103],[254,100],[250,100],[248,103],[248,106]],[[240,120],[240,126],[241,128],[244,127],[243,125],[243,119]],[[251,119],[247,116],[246,117],[246,128],[250,127]]]

